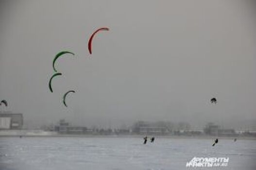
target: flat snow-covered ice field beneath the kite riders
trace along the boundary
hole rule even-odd
[[[0,170],[256,170],[256,140],[118,137],[0,137]],[[225,167],[186,168],[194,157]]]

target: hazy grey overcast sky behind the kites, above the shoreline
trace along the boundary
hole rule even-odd
[[[100,27],[110,31],[95,36],[89,59]],[[75,56],[58,59],[51,93],[52,60],[66,50]],[[0,108],[23,113],[25,125],[256,130],[255,66],[253,0],[0,0],[0,99],[9,103]]]

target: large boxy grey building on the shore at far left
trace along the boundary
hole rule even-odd
[[[0,130],[22,129],[23,115],[21,113],[0,112]]]

